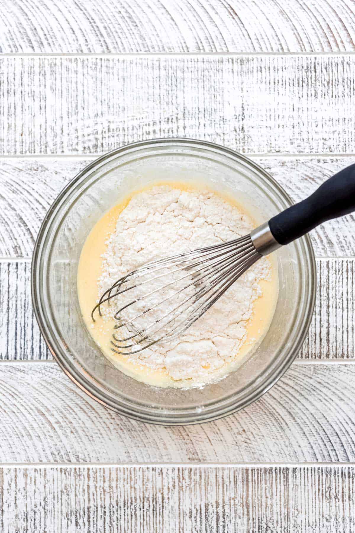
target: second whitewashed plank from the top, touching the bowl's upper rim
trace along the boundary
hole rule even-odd
[[[355,55],[0,58],[0,154],[163,136],[241,152],[353,153]]]

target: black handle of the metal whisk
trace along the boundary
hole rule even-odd
[[[281,245],[291,243],[325,222],[355,211],[355,164],[334,174],[306,200],[288,207],[269,220]]]

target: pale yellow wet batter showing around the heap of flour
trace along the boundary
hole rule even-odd
[[[184,183],[155,183],[155,185],[169,185],[180,190],[191,190],[191,185]],[[207,189],[203,185],[204,189]],[[141,191],[136,191],[141,192]],[[246,210],[241,207],[236,201],[231,200],[230,197],[222,195],[220,192],[213,191],[214,194],[227,200],[230,204],[237,207],[242,213]],[[110,359],[114,366],[118,367],[123,373],[154,386],[175,386],[186,387],[189,380],[174,380],[167,373],[166,369],[153,370],[147,366],[139,365],[136,362],[129,361],[127,356],[114,353],[112,351],[112,333],[114,321],[104,321],[96,314],[96,321],[93,322],[91,312],[98,300],[98,278],[102,272],[102,254],[105,253],[107,244],[106,241],[112,232],[115,230],[115,224],[121,211],[128,205],[131,197],[130,195],[123,199],[119,204],[115,205],[108,213],[103,215],[92,231],[89,233],[85,244],[82,248],[78,265],[78,297],[82,316],[84,318],[86,327],[94,338],[95,342],[105,357]],[[249,218],[250,213],[247,213]],[[256,226],[257,224],[255,224]],[[224,367],[218,369],[214,378],[218,379],[232,370],[240,366],[245,357],[251,354],[260,344],[262,338],[267,333],[271,320],[274,316],[277,296],[278,296],[278,276],[275,256],[270,256],[271,263],[271,278],[260,280],[259,285],[262,290],[262,296],[253,303],[253,316],[247,322],[247,337],[244,344],[236,354],[234,362],[225,364]]]

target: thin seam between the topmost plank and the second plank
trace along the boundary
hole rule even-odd
[[[338,52],[4,52],[0,54],[3,58],[149,58],[149,57],[313,57],[313,56],[351,56],[355,51]]]

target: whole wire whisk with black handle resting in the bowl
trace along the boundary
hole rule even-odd
[[[183,333],[263,255],[355,210],[355,164],[250,235],[154,261],[117,280],[92,311],[115,302],[112,350],[129,355]],[[120,303],[119,303],[120,302]]]

